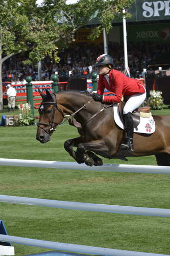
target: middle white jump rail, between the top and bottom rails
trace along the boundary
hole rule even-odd
[[[0,202],[35,205],[35,206],[43,206],[43,207],[53,207],[53,208],[63,208],[63,209],[74,209],[74,210],[111,212],[114,214],[170,217],[170,209],[159,209],[159,208],[80,203],[80,202],[58,201],[58,200],[48,200],[48,199],[29,198],[29,197],[15,197],[15,196],[6,196],[6,195],[0,195]]]

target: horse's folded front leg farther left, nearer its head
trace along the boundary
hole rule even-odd
[[[78,163],[84,163],[82,156],[77,154],[77,152],[74,151],[73,149],[74,146],[77,147],[80,143],[83,143],[83,140],[81,137],[69,139],[64,142],[64,148],[69,153],[69,155],[73,157]]]

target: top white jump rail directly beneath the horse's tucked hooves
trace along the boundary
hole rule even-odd
[[[148,174],[170,174],[170,166],[155,165],[132,165],[132,164],[103,164],[102,166],[87,166],[75,162],[55,162],[40,160],[23,160],[0,158],[0,165],[40,167],[54,169],[75,169],[75,170],[95,170],[103,172],[123,172],[123,173],[148,173]]]

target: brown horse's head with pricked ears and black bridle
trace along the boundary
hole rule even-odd
[[[51,139],[51,135],[56,130],[64,118],[62,110],[57,105],[56,95],[46,90],[46,95],[40,90],[39,93],[42,97],[42,102],[39,107],[39,122],[36,134],[36,139],[41,143],[46,143]]]

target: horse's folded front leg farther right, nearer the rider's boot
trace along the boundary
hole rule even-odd
[[[91,142],[80,143],[77,147],[77,156],[81,156],[84,159],[85,164],[102,165],[102,159],[96,156],[94,153],[103,156],[109,156],[109,150],[104,140],[95,140]]]

